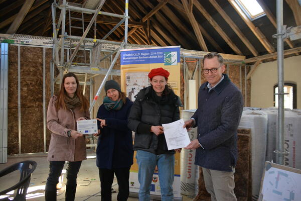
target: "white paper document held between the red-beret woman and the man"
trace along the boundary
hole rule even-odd
[[[184,126],[184,120],[162,124],[168,150],[184,148],[190,143],[190,139]]]

